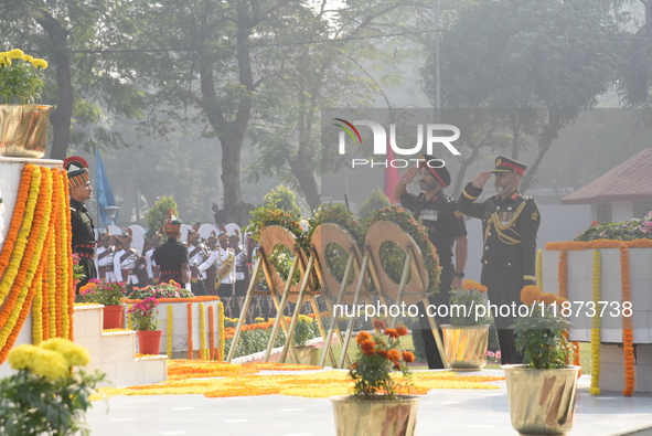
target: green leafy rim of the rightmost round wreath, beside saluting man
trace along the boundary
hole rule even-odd
[[[441,267],[439,266],[439,256],[432,243],[428,240],[428,232],[419,222],[417,222],[409,213],[405,212],[396,205],[383,208],[373,213],[372,217],[365,222],[366,230],[377,221],[389,221],[398,225],[405,233],[410,235],[419,246],[421,255],[424,256],[424,266],[428,273],[428,288],[427,293],[439,291],[439,276],[441,275]]]

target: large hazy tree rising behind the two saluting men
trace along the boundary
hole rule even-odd
[[[512,150],[525,132],[537,143],[523,190],[559,130],[594,107],[616,77],[619,30],[611,12],[607,0],[479,0],[464,3],[442,35],[443,106],[507,108],[501,117]],[[432,100],[434,63],[430,55],[424,68]],[[514,110],[524,108],[541,110]]]

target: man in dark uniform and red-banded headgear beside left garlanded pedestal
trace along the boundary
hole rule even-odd
[[[77,156],[64,160],[63,167],[67,171],[71,195],[71,226],[73,253],[79,255],[79,265],[84,268],[85,277],[77,283],[76,291],[97,277],[95,268],[95,225],[84,202],[93,196],[93,187],[88,179],[88,163]]]

